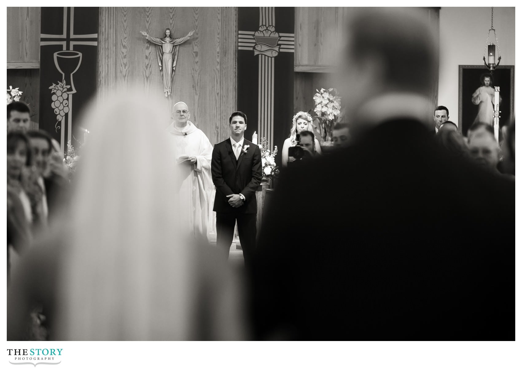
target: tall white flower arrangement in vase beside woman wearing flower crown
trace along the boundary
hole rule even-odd
[[[332,129],[334,123],[339,119],[341,114],[341,97],[337,94],[337,89],[330,88],[328,90],[321,88],[316,89],[314,94],[315,114],[319,120],[319,129],[321,137],[325,141],[332,141]]]

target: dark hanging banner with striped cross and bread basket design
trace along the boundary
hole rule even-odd
[[[283,142],[293,117],[294,8],[238,8],[238,110],[247,118],[245,138],[258,143],[266,137],[277,146],[281,163]]]

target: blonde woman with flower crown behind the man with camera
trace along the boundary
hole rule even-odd
[[[291,163],[297,159],[294,155],[301,154],[302,146],[299,144],[298,136],[303,131],[308,131],[312,134],[314,154],[321,154],[321,146],[319,146],[319,141],[315,138],[312,122],[313,119],[310,116],[310,114],[305,113],[304,111],[299,111],[292,118],[292,128],[290,129],[290,137],[284,140],[283,143],[281,162],[283,167],[287,167],[288,163]]]

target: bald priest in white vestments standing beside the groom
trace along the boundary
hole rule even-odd
[[[189,121],[191,113],[184,102],[174,105],[174,121],[167,129],[179,167],[181,216],[194,235],[207,237],[210,199],[214,185],[210,174],[212,145],[203,131]]]

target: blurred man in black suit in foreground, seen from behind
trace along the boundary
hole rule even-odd
[[[252,257],[255,337],[514,340],[514,183],[430,134],[425,22],[361,10],[347,31],[353,143],[282,174]]]

